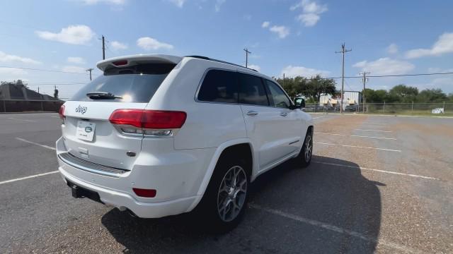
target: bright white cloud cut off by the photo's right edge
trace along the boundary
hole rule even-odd
[[[422,56],[440,56],[453,53],[453,32],[440,35],[437,42],[430,49],[412,49],[406,52],[406,58],[415,59]]]

